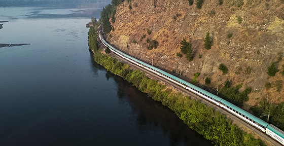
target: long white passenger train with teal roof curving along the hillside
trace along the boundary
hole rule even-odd
[[[232,113],[233,115],[237,116],[238,118],[242,119],[243,121],[253,125],[254,127],[256,127],[257,129],[265,132],[267,135],[269,135],[270,137],[272,137],[273,139],[275,139],[276,141],[278,141],[279,143],[281,143],[282,145],[284,145],[284,132],[281,131],[280,129],[278,129],[277,127],[275,127],[272,124],[268,124],[267,122],[257,118],[256,116],[244,111],[243,109],[239,108],[238,106],[230,103],[229,101],[222,99],[210,92],[207,92],[197,86],[194,86],[193,84],[190,84],[180,78],[177,78],[171,74],[168,74],[167,72],[154,67],[152,65],[149,65],[143,61],[140,61],[138,59],[135,59],[121,51],[119,51],[118,49],[114,48],[112,45],[110,45],[107,41],[104,40],[103,36],[102,36],[102,32],[99,31],[99,39],[101,40],[101,42],[103,43],[104,46],[107,46],[110,48],[110,50],[119,55],[120,57],[132,62],[133,64],[136,64],[140,67],[143,67],[151,72],[153,72],[154,74],[170,81],[173,82],[193,93],[195,93],[196,95],[218,105],[221,106],[222,108],[226,109],[226,111]]]

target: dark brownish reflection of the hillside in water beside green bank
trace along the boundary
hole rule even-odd
[[[106,78],[113,78],[118,84],[118,97],[121,104],[131,106],[131,115],[136,115],[139,131],[161,127],[164,134],[169,135],[171,145],[212,145],[197,132],[191,130],[168,107],[154,101],[146,93],[140,92],[118,76],[107,72]]]

